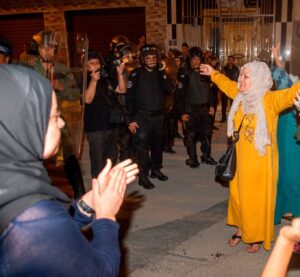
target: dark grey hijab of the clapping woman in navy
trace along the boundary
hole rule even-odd
[[[42,153],[52,89],[39,73],[0,65],[0,233],[41,199],[68,198],[51,186]]]

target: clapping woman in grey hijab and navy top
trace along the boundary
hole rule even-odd
[[[50,82],[31,69],[0,65],[0,276],[117,276],[116,214],[135,179],[130,160],[110,160],[73,202],[51,186],[43,159],[59,147],[64,121]],[[80,228],[91,224],[89,242]]]

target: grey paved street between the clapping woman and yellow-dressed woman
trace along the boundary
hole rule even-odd
[[[212,156],[218,159],[226,148],[226,124],[216,125],[220,130],[214,132]],[[149,191],[137,182],[127,189],[119,216],[120,276],[260,276],[269,252],[249,254],[243,243],[227,244],[235,229],[226,226],[228,188],[214,181],[214,166],[190,169],[181,140],[176,139],[174,149],[177,154],[164,154],[167,182],[154,179],[156,188]],[[87,145],[81,164],[87,183]],[[292,257],[288,276],[300,276],[299,261],[300,256]]]

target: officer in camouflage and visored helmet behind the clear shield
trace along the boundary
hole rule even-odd
[[[57,95],[58,105],[61,106],[63,100],[79,100],[80,90],[68,67],[55,60],[57,48],[58,40],[54,32],[41,31],[35,34],[30,51],[31,53],[35,52],[37,57],[29,66],[50,80]],[[78,199],[85,193],[85,187],[81,168],[72,149],[71,141],[72,138],[66,124],[62,129],[64,172],[73,188],[74,198]]]

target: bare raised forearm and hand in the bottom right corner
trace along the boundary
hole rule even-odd
[[[294,244],[298,241],[300,241],[300,218],[294,219],[291,225],[281,228],[261,276],[285,277]]]

